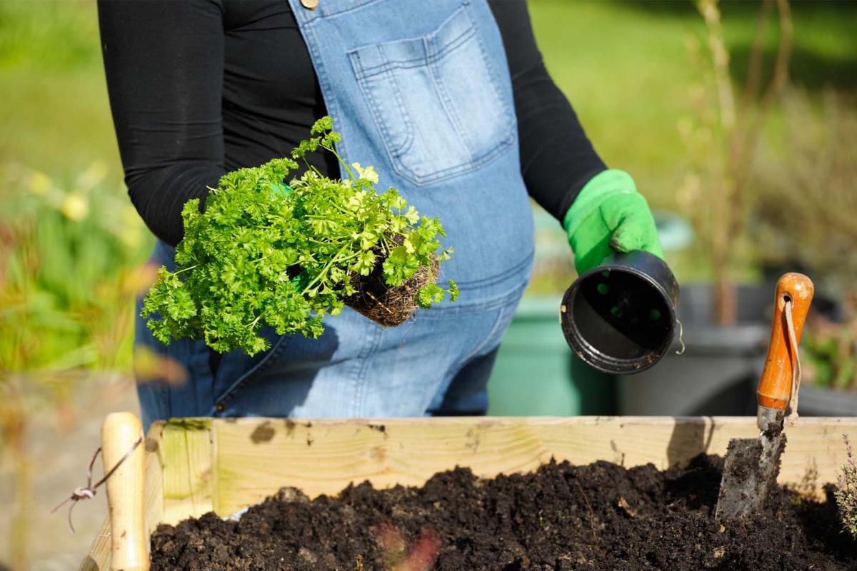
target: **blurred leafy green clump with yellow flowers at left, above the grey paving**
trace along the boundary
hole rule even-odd
[[[0,375],[127,367],[145,228],[95,163],[66,182],[0,167]]]

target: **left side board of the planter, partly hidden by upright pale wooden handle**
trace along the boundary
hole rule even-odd
[[[146,437],[146,493],[143,509],[146,513],[147,534],[152,535],[164,511],[163,473],[159,442],[164,423],[155,423]],[[111,563],[110,518],[105,518],[93,540],[89,555],[81,563],[80,571],[107,571]]]

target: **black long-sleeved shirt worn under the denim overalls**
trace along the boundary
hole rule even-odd
[[[488,0],[512,74],[521,169],[562,219],[604,164],[550,79],[523,0]],[[181,240],[181,210],[229,170],[285,157],[326,114],[285,0],[99,0],[125,182],[149,229]],[[309,158],[336,175],[329,153]]]

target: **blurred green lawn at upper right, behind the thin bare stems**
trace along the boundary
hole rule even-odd
[[[722,3],[736,79],[746,74],[758,2]],[[793,3],[792,80],[810,88],[857,88],[857,3]],[[611,166],[627,170],[653,206],[675,209],[686,158],[677,123],[700,80],[686,42],[704,45],[694,4],[677,0],[530,3],[542,56],[590,139]],[[776,49],[769,19],[765,60]],[[772,122],[776,125],[776,118]]]

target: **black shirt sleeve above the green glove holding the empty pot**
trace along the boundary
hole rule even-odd
[[[536,47],[524,0],[488,0],[512,75],[521,172],[527,191],[562,222],[580,189],[607,167],[554,84]]]

